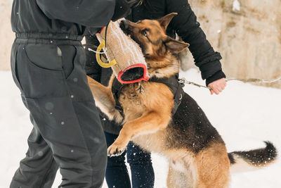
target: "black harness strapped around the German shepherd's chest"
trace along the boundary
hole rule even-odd
[[[162,83],[165,84],[171,92],[174,94],[174,108],[171,111],[171,113],[174,115],[176,113],[176,110],[178,109],[178,106],[181,104],[181,99],[183,99],[183,87],[184,84],[178,82],[178,74],[173,75],[171,77],[163,77],[163,78],[158,78],[158,77],[151,77],[148,82],[157,82],[157,83]],[[118,80],[115,78],[112,83],[112,94],[115,98],[115,108],[121,113],[121,115],[124,118],[124,112],[121,104],[119,103],[119,94],[122,88],[126,84],[122,84],[118,82]]]

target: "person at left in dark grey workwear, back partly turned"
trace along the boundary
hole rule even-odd
[[[81,39],[128,15],[125,0],[14,0],[11,70],[34,125],[11,188],[102,187],[107,146]]]

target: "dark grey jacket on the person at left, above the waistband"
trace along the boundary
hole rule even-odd
[[[95,34],[114,11],[115,0],[14,0],[11,25],[18,37],[81,39],[86,27]]]

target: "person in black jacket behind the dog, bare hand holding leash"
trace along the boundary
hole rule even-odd
[[[207,41],[188,0],[141,0],[138,6],[132,8],[131,14],[126,19],[133,22],[144,19],[158,19],[173,12],[178,13],[178,15],[171,20],[166,34],[173,38],[177,34],[184,42],[190,44],[189,50],[195,59],[195,65],[200,68],[202,79],[206,80],[206,85],[212,88],[211,94],[220,93],[226,87],[226,75],[223,73],[220,63],[221,55],[214,51]],[[93,35],[86,35],[86,43],[98,45],[98,40]],[[86,51],[86,56],[87,75],[107,85],[107,77],[112,74],[111,68],[100,68],[96,63],[96,54],[91,51]],[[107,120],[103,115],[102,124],[107,146],[110,146],[118,137],[119,130],[122,127]],[[122,153],[121,156],[107,158],[105,178],[108,186],[110,188],[131,187],[129,173],[124,163],[126,153],[127,161],[131,167],[132,187],[154,187],[155,175],[150,153],[143,151],[132,142],[129,143],[126,152]]]

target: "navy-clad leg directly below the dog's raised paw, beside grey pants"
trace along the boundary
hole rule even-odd
[[[117,134],[105,132],[107,147],[115,142],[117,137]],[[109,188],[131,188],[130,177],[125,164],[125,155],[126,151],[120,156],[107,157],[105,180]]]

